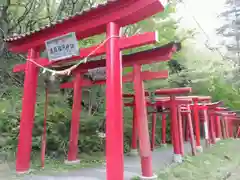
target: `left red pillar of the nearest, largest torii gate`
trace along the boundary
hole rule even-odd
[[[28,51],[28,58],[32,61],[34,61],[37,56],[38,53],[34,49]],[[16,171],[19,173],[26,172],[30,168],[38,70],[35,64],[27,61],[16,159]]]

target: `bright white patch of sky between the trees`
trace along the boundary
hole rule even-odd
[[[183,16],[181,25],[186,28],[198,27],[191,15],[194,15],[201,24],[204,31],[211,37],[211,43],[216,43],[215,28],[220,25],[217,18],[223,11],[225,0],[184,0],[186,7],[180,6],[177,9],[178,16]],[[200,29],[197,28],[200,32]],[[199,36],[199,40],[205,41],[204,35]]]

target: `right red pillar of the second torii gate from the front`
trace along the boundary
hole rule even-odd
[[[152,177],[152,153],[150,149],[150,139],[148,131],[148,119],[146,102],[144,95],[144,84],[141,79],[141,66],[134,65],[134,92],[135,92],[135,107],[137,114],[137,127],[138,127],[138,138],[139,138],[139,148],[141,157],[141,169],[142,176]]]

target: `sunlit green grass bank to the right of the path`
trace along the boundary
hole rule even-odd
[[[240,141],[217,143],[196,157],[186,156],[181,165],[166,168],[158,174],[159,180],[221,180],[240,169]]]

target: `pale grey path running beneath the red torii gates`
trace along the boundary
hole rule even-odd
[[[185,152],[190,152],[190,145],[185,144]],[[172,162],[172,148],[157,149],[153,152],[154,172],[158,172]],[[125,156],[124,159],[124,179],[130,180],[134,176],[141,174],[139,157]],[[106,168],[99,166],[96,168],[84,168],[68,173],[59,173],[54,176],[34,175],[26,176],[25,180],[105,180]]]

